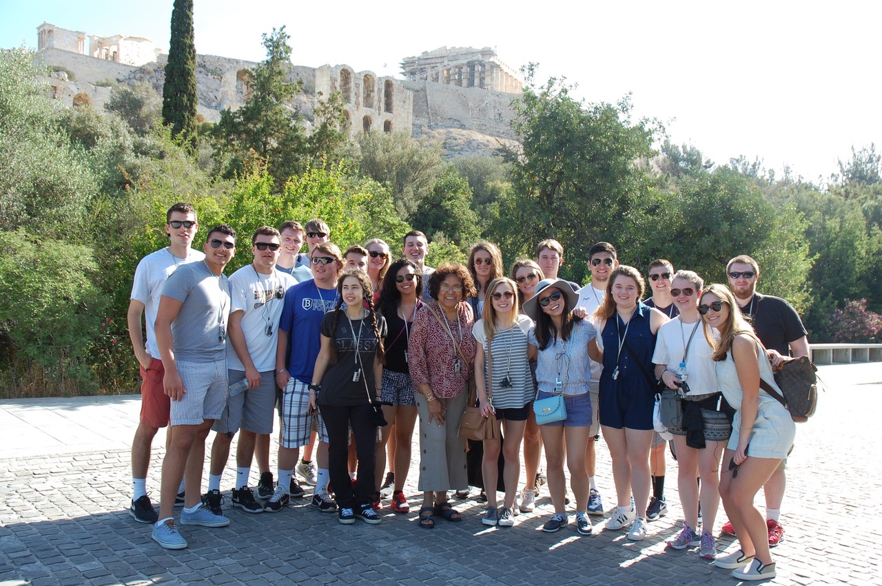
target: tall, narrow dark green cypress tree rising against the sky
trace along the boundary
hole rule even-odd
[[[162,86],[162,121],[172,136],[196,148],[196,47],[193,44],[193,0],[175,0],[171,12],[166,80]]]

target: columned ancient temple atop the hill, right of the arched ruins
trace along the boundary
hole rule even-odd
[[[419,56],[405,57],[401,70],[410,81],[432,81],[460,87],[480,87],[521,93],[523,83],[497,58],[490,47],[441,47]]]

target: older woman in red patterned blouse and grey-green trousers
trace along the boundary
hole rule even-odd
[[[475,295],[475,283],[465,266],[444,263],[429,279],[429,294],[433,302],[416,312],[407,346],[407,366],[419,391],[420,527],[426,529],[435,526],[433,515],[462,518],[447,502],[447,491],[468,486],[466,440],[459,433],[475,363],[475,315],[465,302]]]

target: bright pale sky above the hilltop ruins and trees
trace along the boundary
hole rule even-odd
[[[44,21],[126,34],[168,50],[173,0],[0,0],[0,48],[36,47]],[[566,78],[587,102],[631,94],[632,115],[722,164],[759,157],[818,182],[851,148],[882,145],[878,23],[882,3],[333,3],[195,0],[200,54],[261,61],[261,34],[286,26],[292,61],[401,78],[400,61],[448,47],[492,47],[536,81]],[[0,80],[2,85],[2,80]]]

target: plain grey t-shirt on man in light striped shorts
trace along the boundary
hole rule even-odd
[[[184,264],[168,277],[162,294],[183,303],[171,324],[175,360],[225,360],[230,307],[228,278],[217,277],[204,262]]]

